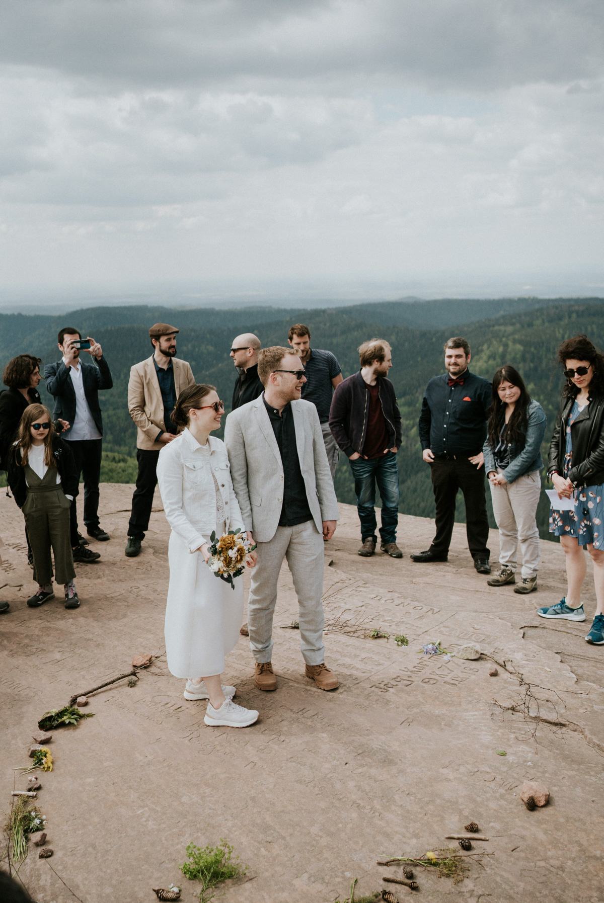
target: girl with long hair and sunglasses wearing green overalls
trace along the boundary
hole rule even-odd
[[[54,598],[52,559],[56,580],[64,584],[65,608],[77,609],[70,543],[70,507],[78,488],[78,471],[69,444],[62,442],[44,405],[23,411],[16,442],[8,461],[8,485],[23,511],[33,551],[33,579],[38,591],[27,600],[39,608]]]

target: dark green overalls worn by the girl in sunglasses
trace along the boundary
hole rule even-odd
[[[40,479],[25,465],[27,498],[23,504],[25,526],[33,552],[33,579],[46,586],[52,579],[51,546],[58,583],[69,583],[76,575],[70,542],[70,499],[57,485],[57,469],[49,467]]]

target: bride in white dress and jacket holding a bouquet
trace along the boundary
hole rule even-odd
[[[245,529],[218,430],[224,405],[214,386],[193,385],[178,396],[172,423],[183,427],[160,452],[157,481],[172,527],[168,545],[170,585],[165,616],[168,667],[188,678],[184,698],[208,700],[209,725],[246,727],[258,712],[232,701],[233,686],[220,683],[225,656],[235,647],[243,619],[243,581],[235,590],[208,567],[209,537]],[[256,553],[246,564],[256,564]]]

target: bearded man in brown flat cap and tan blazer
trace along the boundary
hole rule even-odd
[[[157,485],[157,459],[164,444],[172,442],[178,433],[170,414],[182,389],[195,382],[187,361],[174,357],[178,331],[168,323],[155,323],[149,330],[153,355],[130,368],[128,411],[138,427],[138,475],[128,522],[128,544],[125,547],[128,558],[135,558],[141,553]]]

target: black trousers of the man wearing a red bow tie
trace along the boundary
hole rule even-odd
[[[432,462],[432,489],[436,502],[436,535],[430,551],[447,554],[455,522],[455,498],[463,492],[466,503],[466,534],[472,558],[488,558],[487,499],[485,469],[477,469],[468,458],[435,458]]]

